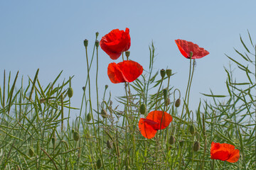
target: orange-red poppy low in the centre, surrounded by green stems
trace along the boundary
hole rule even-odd
[[[169,113],[163,111],[151,111],[146,118],[141,118],[139,120],[139,131],[142,132],[144,137],[151,139],[156,135],[157,130],[167,128],[171,121],[172,117]]]

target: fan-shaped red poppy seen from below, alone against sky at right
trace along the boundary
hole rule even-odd
[[[193,52],[192,59],[198,59],[210,54],[210,52],[204,50],[193,42],[179,39],[175,40],[175,42],[176,45],[178,45],[178,50],[180,50],[181,55],[188,59],[190,59],[190,52]]]

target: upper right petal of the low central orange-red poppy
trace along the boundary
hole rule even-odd
[[[154,122],[159,123],[157,130],[162,130],[164,128],[167,128],[167,126],[169,126],[169,124],[173,120],[173,118],[171,117],[171,115],[169,115],[169,113],[166,113],[163,111],[151,111],[146,116],[146,119],[153,120]],[[160,128],[160,125],[161,125],[161,128]]]

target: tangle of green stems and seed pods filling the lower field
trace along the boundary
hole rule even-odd
[[[94,46],[89,58],[86,46],[87,81],[80,115],[75,120],[70,120],[70,111],[77,108],[72,108],[68,96],[72,77],[56,84],[60,72],[43,87],[38,69],[33,79],[28,79],[28,86],[23,86],[23,78],[20,86],[18,73],[11,82],[11,73],[8,76],[4,72],[4,84],[0,86],[0,169],[256,169],[256,54],[248,35],[249,46],[240,38],[245,54],[235,50],[236,56],[227,55],[247,81],[237,81],[233,68],[225,68],[228,96],[210,91],[204,95],[211,102],[202,99],[196,111],[189,109],[192,60],[186,96],[181,98],[182,109],[177,109],[178,89],[171,86],[169,77],[161,79],[158,72],[153,72],[153,44],[149,47],[149,67],[144,68],[146,74],[125,84],[126,96],[115,99],[107,86],[104,94],[92,91],[90,84],[95,81],[97,86],[97,75],[92,77],[90,68],[92,60],[98,63],[98,47]],[[163,89],[168,90],[168,105]],[[97,96],[95,104],[90,100],[92,94]],[[142,103],[146,104],[146,113],[166,111],[174,118],[151,140],[138,129],[139,119],[146,116],[139,113]],[[170,137],[175,138],[173,144]],[[196,141],[201,147],[193,151]],[[239,161],[210,159],[213,141],[240,149]]]

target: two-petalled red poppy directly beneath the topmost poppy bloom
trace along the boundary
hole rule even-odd
[[[107,75],[114,84],[132,82],[143,72],[143,67],[134,61],[125,60],[118,64],[112,62],[107,67]]]

